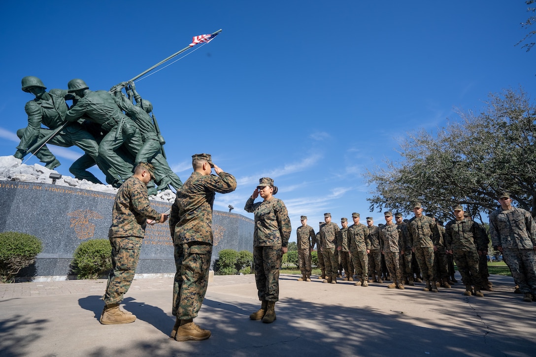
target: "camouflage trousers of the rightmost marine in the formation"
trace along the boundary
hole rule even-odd
[[[522,293],[536,294],[536,255],[533,249],[503,248],[504,261]]]

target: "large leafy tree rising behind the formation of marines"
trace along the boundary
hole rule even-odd
[[[411,212],[418,200],[443,221],[452,204],[473,217],[497,207],[497,193],[510,191],[518,206],[536,212],[536,106],[519,90],[490,94],[479,115],[458,110],[460,120],[421,130],[401,144],[401,160],[387,161],[364,176],[374,187],[371,211]]]

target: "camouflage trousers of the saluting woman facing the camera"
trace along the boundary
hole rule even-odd
[[[281,247],[253,247],[255,282],[260,301],[279,301]]]

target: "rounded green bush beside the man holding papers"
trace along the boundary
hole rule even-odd
[[[96,279],[111,270],[111,246],[108,239],[81,243],[73,254],[72,270],[78,279]]]

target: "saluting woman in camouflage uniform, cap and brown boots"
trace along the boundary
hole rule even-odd
[[[291,220],[285,203],[273,197],[277,194],[270,177],[259,179],[259,185],[245,203],[244,210],[255,215],[253,233],[253,263],[257,295],[262,305],[251,314],[252,320],[272,323],[276,319],[274,306],[279,301],[279,267],[281,256],[287,252],[288,239],[291,236]],[[264,200],[255,203],[260,195]]]

